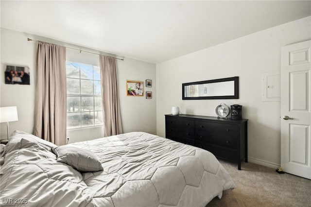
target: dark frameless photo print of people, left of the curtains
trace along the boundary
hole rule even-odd
[[[6,66],[5,84],[30,85],[30,69],[25,66]]]

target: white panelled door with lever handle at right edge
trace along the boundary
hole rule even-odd
[[[311,41],[281,50],[281,168],[311,179]]]

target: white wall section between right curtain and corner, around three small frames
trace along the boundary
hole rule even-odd
[[[123,133],[143,131],[156,134],[155,64],[125,59],[117,62],[117,67]],[[152,87],[146,87],[146,79],[152,80]],[[143,81],[144,96],[126,96],[126,80]],[[146,99],[146,91],[152,92],[152,99]]]

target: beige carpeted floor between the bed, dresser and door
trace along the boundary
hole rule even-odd
[[[236,184],[214,198],[206,207],[311,207],[311,180],[292,174],[279,174],[276,169],[219,160]]]

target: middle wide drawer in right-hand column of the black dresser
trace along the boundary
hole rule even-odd
[[[203,131],[196,131],[195,141],[207,144],[223,146],[231,149],[238,149],[238,138],[231,135],[212,134]]]

